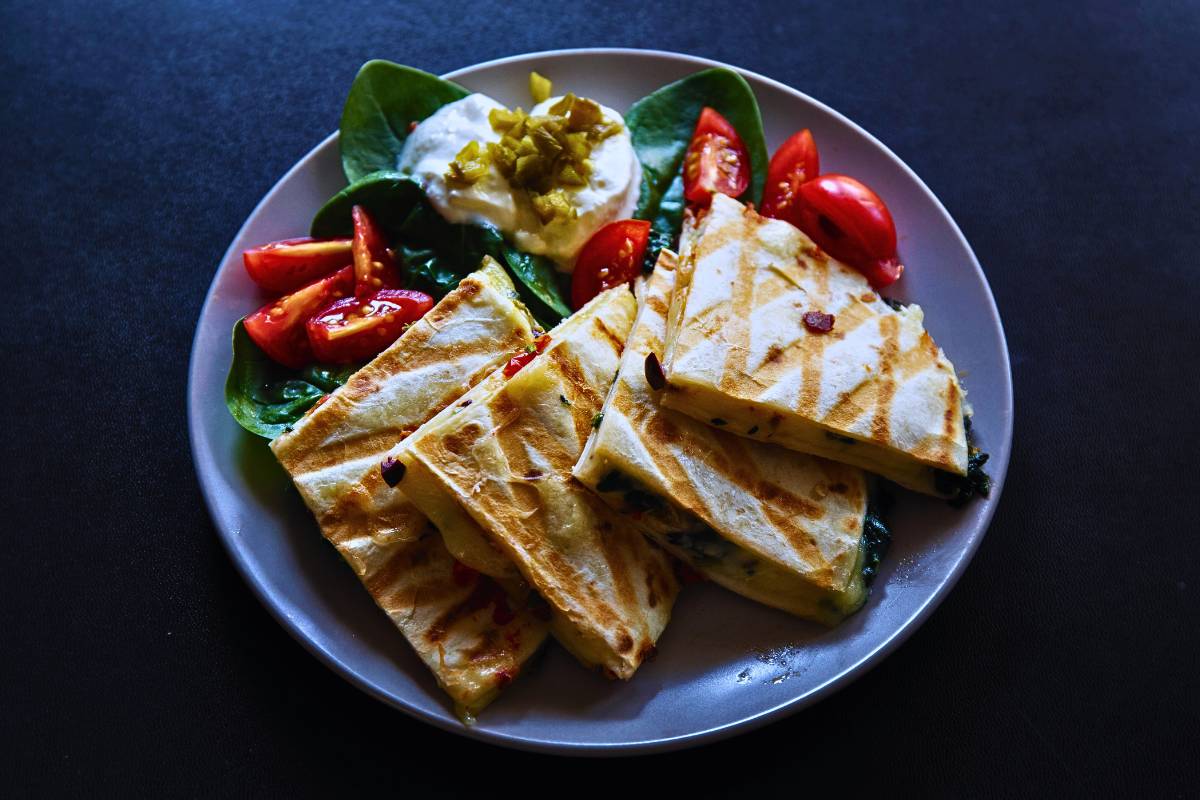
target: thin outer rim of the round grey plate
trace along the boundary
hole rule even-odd
[[[966,236],[962,234],[961,228],[958,222],[950,215],[950,212],[942,204],[941,199],[925,185],[925,181],[917,175],[916,172],[908,164],[894,154],[886,144],[872,136],[869,131],[859,126],[853,120],[848,119],[834,108],[830,108],[826,103],[816,100],[815,97],[799,91],[782,82],[775,80],[767,76],[760,74],[751,70],[745,70],[731,64],[725,64],[715,59],[708,59],[697,55],[690,55],[685,53],[676,53],[671,50],[661,49],[643,49],[643,48],[623,48],[623,47],[590,47],[590,48],[563,48],[563,49],[551,49],[551,50],[536,50],[530,53],[521,53],[515,55],[508,55],[498,59],[491,59],[488,61],[481,61],[479,64],[468,65],[452,70],[450,72],[443,73],[440,77],[446,80],[455,80],[462,76],[467,76],[478,71],[485,71],[488,68],[494,68],[498,66],[530,61],[535,59],[545,58],[581,58],[590,55],[626,55],[632,58],[659,58],[668,61],[677,61],[684,64],[691,64],[700,68],[704,67],[725,67],[732,70],[745,78],[748,82],[762,82],[776,90],[785,94],[793,95],[804,102],[812,103],[821,108],[824,113],[836,118],[840,122],[854,130],[857,133],[866,138],[871,144],[874,144],[887,158],[900,167],[908,178],[914,182],[914,185],[923,192],[929,200],[931,200],[941,212],[942,217],[949,222],[953,234],[959,239],[966,253],[970,255],[970,265],[974,269],[978,277],[982,279],[984,293],[988,300],[988,312],[990,314],[990,320],[1000,336],[1000,354],[1001,362],[1003,366],[1003,393],[1004,396],[1000,398],[1001,405],[1006,411],[1003,414],[1002,427],[1001,427],[1001,440],[997,446],[992,447],[992,451],[998,451],[1002,458],[992,462],[994,475],[992,475],[992,494],[985,500],[985,506],[983,509],[983,515],[978,524],[978,535],[972,537],[965,543],[965,547],[959,552],[958,559],[953,564],[948,575],[937,583],[936,588],[929,595],[929,599],[907,619],[904,624],[894,630],[888,637],[883,638],[875,648],[868,651],[862,658],[845,668],[841,673],[830,678],[829,680],[812,686],[805,693],[793,697],[787,702],[780,703],[773,708],[766,709],[758,714],[743,717],[740,720],[734,720],[719,726],[706,728],[703,730],[694,730],[679,735],[664,736],[660,739],[644,739],[638,741],[619,741],[619,742],[578,742],[578,741],[556,741],[551,739],[530,739],[526,736],[512,735],[503,732],[480,729],[474,726],[466,726],[458,723],[454,720],[448,720],[437,715],[426,712],[415,705],[410,705],[404,702],[401,697],[395,697],[389,694],[379,686],[374,685],[362,675],[358,674],[352,666],[341,661],[336,655],[320,646],[312,638],[306,636],[305,631],[301,630],[300,624],[290,618],[280,603],[275,600],[274,595],[269,593],[265,584],[259,579],[257,571],[250,564],[248,559],[239,548],[234,537],[229,531],[218,524],[218,517],[216,513],[216,507],[218,505],[215,493],[216,489],[212,482],[206,477],[209,470],[218,469],[212,461],[211,451],[203,451],[202,447],[202,435],[203,435],[203,423],[202,414],[199,408],[194,402],[197,384],[197,373],[199,372],[199,360],[197,356],[198,347],[200,343],[200,321],[205,318],[209,312],[209,307],[214,301],[214,295],[216,293],[217,276],[221,271],[221,265],[229,261],[230,257],[234,254],[234,246],[239,242],[246,228],[250,225],[251,221],[254,219],[262,209],[278,193],[282,187],[289,182],[292,176],[299,172],[301,168],[306,167],[317,155],[330,146],[337,139],[337,131],[334,131],[318,144],[316,144],[308,152],[306,152],[295,164],[293,164],[283,175],[275,182],[274,186],[259,199],[254,205],[253,210],[246,216],[241,227],[239,227],[238,233],[234,234],[229,242],[229,246],[223,252],[221,260],[217,264],[217,270],[212,273],[212,279],[209,284],[209,289],[204,295],[204,302],[200,306],[199,314],[197,315],[196,331],[192,335],[192,347],[188,355],[188,368],[187,368],[187,426],[188,426],[188,443],[192,450],[192,465],[196,470],[197,482],[200,487],[200,494],[204,498],[205,509],[209,512],[210,522],[212,528],[217,533],[217,537],[221,540],[222,547],[229,555],[230,560],[234,563],[235,569],[241,575],[242,581],[250,587],[252,594],[258,599],[258,602],[266,608],[268,613],[295,639],[305,650],[311,652],[317,657],[318,661],[324,663],[330,670],[347,680],[350,685],[355,686],[370,697],[376,698],[385,703],[386,705],[398,709],[400,711],[407,714],[408,716],[436,726],[437,728],[474,739],[476,741],[484,741],[493,745],[499,745],[503,747],[509,747],[514,750],[528,751],[528,752],[540,752],[540,753],[553,753],[553,754],[569,754],[569,756],[593,756],[593,757],[605,757],[605,756],[634,756],[634,754],[648,754],[655,752],[668,752],[676,750],[683,750],[686,747],[695,747],[704,744],[712,744],[722,739],[727,739],[733,735],[749,733],[757,728],[761,728],[770,722],[780,720],[785,716],[796,714],[809,705],[812,705],[830,694],[840,691],[846,685],[858,680],[868,672],[874,669],[887,658],[892,652],[896,650],[901,644],[904,644],[910,636],[912,636],[929,616],[941,606],[946,600],[947,595],[954,589],[962,573],[966,572],[967,566],[974,558],[979,545],[983,542],[984,536],[988,534],[988,529],[991,527],[991,521],[995,517],[996,507],[1000,505],[1000,498],[1003,493],[1004,481],[1008,475],[1008,464],[1012,456],[1012,444],[1013,444],[1013,416],[1014,416],[1014,398],[1013,398],[1013,369],[1012,360],[1008,350],[1008,337],[1004,332],[1003,320],[1000,315],[1000,309],[996,306],[995,294],[991,289],[991,283],[988,281],[988,276],[983,270],[979,258],[976,255],[974,249],[967,241]]]

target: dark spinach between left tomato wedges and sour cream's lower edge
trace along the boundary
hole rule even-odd
[[[542,324],[551,326],[570,315],[550,259],[521,252],[496,228],[448,222],[425,199],[420,185],[401,173],[372,173],[343,188],[317,212],[312,235],[350,235],[355,205],[371,211],[396,243],[406,285],[442,297],[491,255],[512,273],[522,301]]]

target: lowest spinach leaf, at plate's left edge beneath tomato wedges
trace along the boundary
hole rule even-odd
[[[226,407],[241,427],[274,439],[358,368],[359,365],[313,365],[289,369],[271,361],[238,320],[233,329],[233,365],[226,379]]]

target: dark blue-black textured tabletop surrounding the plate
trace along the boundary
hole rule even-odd
[[[822,775],[851,793],[1193,794],[1200,7],[1062,6],[2,4],[0,786],[628,793],[637,766],[637,786],[701,795]],[[1004,501],[904,648],[798,716],[640,763],[479,745],[326,670],[234,572],[184,423],[212,271],[336,127],[360,62],[584,46],[734,62],[880,137],[974,246],[1016,391]]]

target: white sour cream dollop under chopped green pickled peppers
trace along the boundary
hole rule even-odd
[[[547,114],[559,100],[551,97],[534,106],[529,114]],[[547,255],[560,270],[570,272],[592,234],[610,222],[632,216],[637,206],[642,167],[625,120],[613,109],[600,107],[606,119],[620,124],[620,131],[592,149],[587,185],[564,187],[576,218],[544,225],[526,192],[515,190],[494,167],[469,186],[450,185],[445,179],[450,162],[468,143],[486,145],[500,140],[487,120],[488,113],[500,108],[504,107],[481,94],[443,106],[408,136],[398,169],[420,182],[433,207],[450,222],[494,225],[521,249]]]

